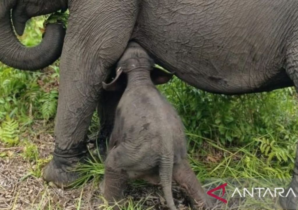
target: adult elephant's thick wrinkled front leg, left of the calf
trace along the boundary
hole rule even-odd
[[[102,98],[102,82],[125,50],[138,9],[137,0],[69,2],[60,61],[55,150],[43,174],[46,181],[57,186],[71,186],[80,175],[73,170],[86,160],[86,135]]]

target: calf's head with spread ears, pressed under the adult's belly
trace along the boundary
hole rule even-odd
[[[174,75],[174,73],[168,73],[156,68],[153,59],[150,58],[146,50],[136,42],[129,42],[117,63],[115,78],[110,83],[103,82],[103,88],[107,91],[123,90],[127,84],[127,75],[134,74],[140,70],[150,72],[154,85],[167,83]]]

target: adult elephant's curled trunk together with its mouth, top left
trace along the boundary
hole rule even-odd
[[[63,24],[48,24],[42,42],[36,47],[25,47],[16,38],[10,20],[19,35],[23,34],[25,23],[30,17],[48,14],[67,8],[67,1],[1,0],[0,2],[0,61],[23,70],[37,70],[52,64],[62,51],[65,29]]]

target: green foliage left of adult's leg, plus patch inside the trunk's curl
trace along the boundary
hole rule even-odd
[[[43,21],[36,18],[27,24],[20,37],[23,44],[34,46],[40,42]],[[53,66],[49,70],[52,74],[21,71],[0,63],[0,141],[7,146],[17,145],[18,135],[26,132],[33,120],[46,122],[55,117],[59,69]]]

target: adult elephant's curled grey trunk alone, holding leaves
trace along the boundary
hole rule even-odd
[[[48,24],[42,42],[25,47],[15,36],[10,9],[16,1],[0,3],[0,61],[13,68],[38,70],[55,62],[61,55],[65,28],[63,24]]]

